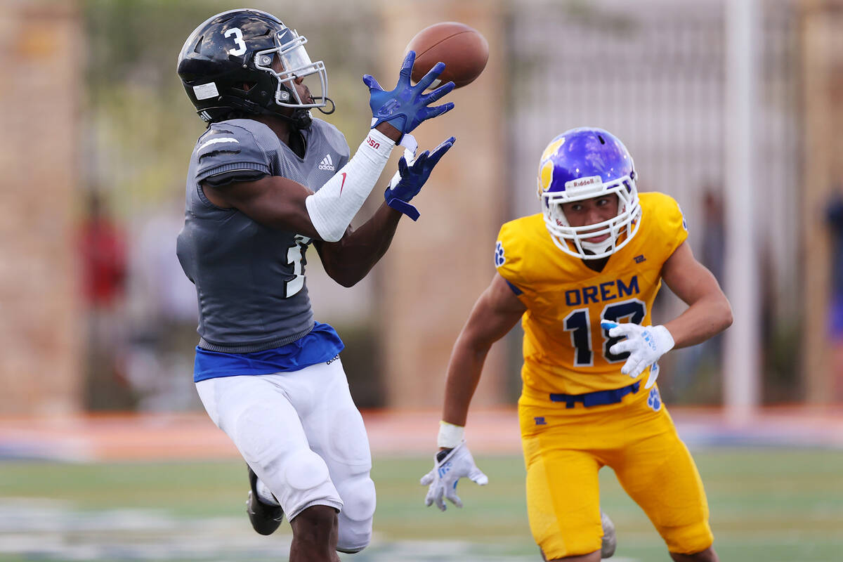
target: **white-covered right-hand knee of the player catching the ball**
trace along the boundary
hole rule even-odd
[[[338,486],[342,498],[337,550],[360,552],[372,541],[372,521],[376,502],[374,483],[368,473],[347,479]]]

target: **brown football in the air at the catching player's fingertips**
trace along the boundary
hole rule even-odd
[[[406,51],[416,51],[412,80],[418,82],[437,62],[445,70],[431,88],[446,82],[462,88],[480,76],[489,60],[489,43],[477,29],[455,21],[440,22],[421,29]],[[406,52],[405,51],[405,52]]]

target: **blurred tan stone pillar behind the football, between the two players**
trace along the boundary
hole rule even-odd
[[[438,406],[454,340],[495,275],[495,240],[505,218],[503,18],[499,3],[448,0],[384,2],[383,18],[384,80],[397,79],[411,38],[439,21],[469,24],[486,36],[491,49],[480,78],[448,94],[455,109],[414,131],[420,150],[451,135],[457,142],[418,197],[418,222],[402,221],[379,265],[386,402],[394,408]],[[503,377],[519,377],[504,372],[504,346],[492,348],[472,404],[500,404]]]

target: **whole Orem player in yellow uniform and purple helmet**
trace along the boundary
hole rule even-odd
[[[691,253],[676,201],[638,195],[632,158],[609,132],[550,142],[539,197],[541,213],[501,228],[497,275],[454,345],[425,501],[461,506],[459,478],[486,484],[463,428],[489,348],[521,319],[527,507],[545,560],[601,558],[598,471],[609,466],[672,559],[716,561],[700,475],[654,383],[664,353],[728,328],[729,302]],[[662,281],[688,308],[652,325]]]

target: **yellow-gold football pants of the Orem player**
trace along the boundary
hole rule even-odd
[[[668,550],[692,554],[711,546],[700,474],[657,387],[642,384],[619,404],[570,409],[524,388],[518,415],[529,526],[547,559],[600,549],[598,471],[604,466],[615,470]]]

